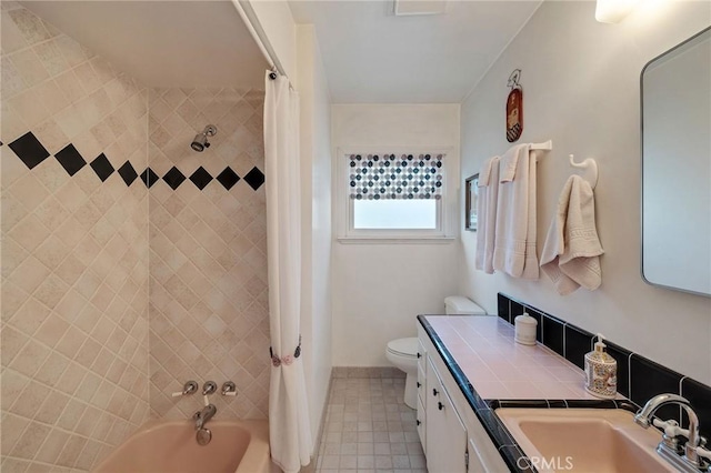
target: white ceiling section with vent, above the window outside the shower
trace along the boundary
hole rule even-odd
[[[290,1],[313,23],[334,103],[460,103],[540,6],[448,1],[395,17],[393,1]]]

